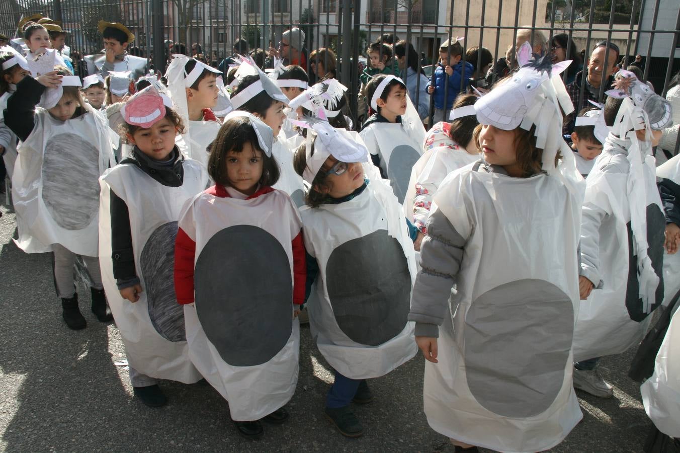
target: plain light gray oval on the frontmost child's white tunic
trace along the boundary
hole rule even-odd
[[[544,280],[517,280],[473,301],[465,324],[467,383],[479,404],[511,418],[545,412],[571,366],[569,297]]]

